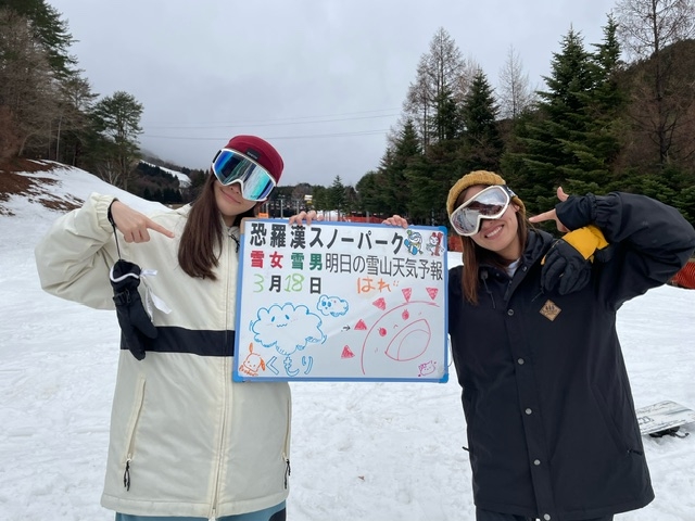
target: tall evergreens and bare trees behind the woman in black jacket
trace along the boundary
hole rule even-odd
[[[494,89],[440,28],[380,165],[356,183],[356,200],[338,195],[337,179],[324,207],[446,225],[451,186],[489,169],[530,213],[553,207],[561,186],[643,193],[695,224],[694,23],[692,0],[620,0],[601,42],[587,49],[573,28],[563,36],[540,90],[514,49]]]

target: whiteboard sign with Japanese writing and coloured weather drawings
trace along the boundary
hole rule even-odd
[[[244,219],[236,381],[435,381],[447,371],[446,229]]]

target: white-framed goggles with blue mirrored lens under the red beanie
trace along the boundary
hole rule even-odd
[[[223,185],[238,182],[241,195],[249,201],[265,201],[277,185],[268,170],[248,155],[222,149],[213,160],[213,171]]]

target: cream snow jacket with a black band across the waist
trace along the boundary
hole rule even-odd
[[[112,201],[92,194],[37,245],[46,291],[114,308],[109,271],[117,253],[106,217]],[[151,231],[150,242],[126,244],[119,234],[124,259],[157,270],[139,287],[143,302],[147,283],[170,308],[153,308],[157,339],[143,360],[121,350],[101,503],[123,513],[222,517],[288,496],[289,385],[231,381],[237,244],[225,237],[216,281],[186,275],[177,252],[189,209],[151,217],[174,239]]]

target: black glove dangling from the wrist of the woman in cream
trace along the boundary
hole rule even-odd
[[[156,339],[156,328],[144,310],[138,285],[140,285],[140,266],[118,259],[111,268],[113,302],[116,304],[121,341],[138,360],[144,358],[144,352]]]

